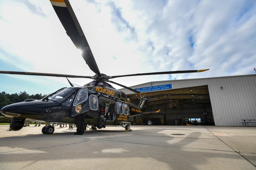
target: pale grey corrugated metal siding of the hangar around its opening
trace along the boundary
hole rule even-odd
[[[216,126],[242,126],[241,119],[256,119],[256,75],[150,82],[131,88],[172,84],[172,89],[208,85]],[[223,87],[222,89],[220,87]],[[120,89],[126,94],[133,92]],[[249,126],[256,126],[250,123]]]

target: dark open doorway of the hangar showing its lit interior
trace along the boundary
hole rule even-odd
[[[138,103],[138,94],[127,97]],[[146,112],[161,110],[159,113],[130,117],[132,125],[186,125],[188,118],[192,125],[214,125],[208,86],[197,86],[164,91],[146,92]]]

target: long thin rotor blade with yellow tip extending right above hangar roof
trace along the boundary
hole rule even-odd
[[[114,79],[114,78],[117,78],[117,77],[137,76],[137,75],[196,73],[196,72],[203,72],[203,71],[207,71],[207,70],[209,70],[209,69],[205,69],[205,70],[163,71],[163,72],[154,72],[154,73],[127,74],[127,75],[110,76],[109,79]]]

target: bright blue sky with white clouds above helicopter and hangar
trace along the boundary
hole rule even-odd
[[[255,0],[70,0],[101,73],[201,73],[111,79],[151,81],[256,74]],[[0,1],[0,70],[93,76],[50,1]],[[69,78],[83,86],[92,79]],[[119,89],[115,84],[113,87]],[[49,94],[66,78],[0,74],[0,92]]]

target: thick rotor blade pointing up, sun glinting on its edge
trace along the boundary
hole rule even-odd
[[[83,30],[76,18],[70,2],[68,0],[50,0],[50,2],[65,28],[67,35],[70,37],[76,48],[82,50],[82,57],[86,64],[95,74],[101,76],[91,48],[84,36]]]

